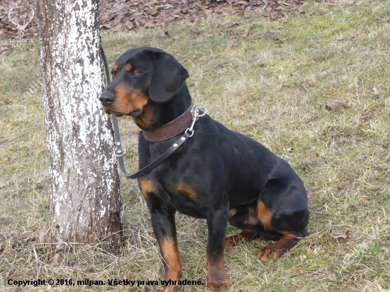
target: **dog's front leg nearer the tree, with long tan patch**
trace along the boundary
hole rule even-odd
[[[182,264],[177,245],[175,210],[160,203],[147,202],[152,217],[152,227],[162,254],[165,267],[165,282],[159,292],[179,291],[179,277],[182,274]],[[158,206],[157,206],[158,205]]]

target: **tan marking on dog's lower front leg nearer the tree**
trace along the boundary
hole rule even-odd
[[[161,249],[162,257],[165,260],[165,279],[179,280],[180,274],[182,274],[182,264],[180,263],[177,240],[163,240]]]

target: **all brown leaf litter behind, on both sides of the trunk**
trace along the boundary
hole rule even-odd
[[[276,19],[286,13],[300,14],[303,0],[101,0],[99,1],[100,27],[102,30],[121,27],[126,30],[164,27],[174,21],[199,21],[207,17],[264,13]],[[18,30],[9,20],[9,10],[17,21],[33,20],[24,30],[25,38],[38,36],[36,0],[3,0],[0,3],[0,38],[17,38]],[[227,27],[228,28],[228,27]]]

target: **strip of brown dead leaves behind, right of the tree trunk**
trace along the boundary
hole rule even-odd
[[[194,22],[209,17],[242,16],[262,12],[265,12],[265,17],[274,20],[286,13],[303,13],[298,8],[303,2],[302,0],[282,2],[277,0],[102,0],[99,9],[101,28],[121,26],[132,30],[142,27],[165,27],[167,23],[174,21]]]

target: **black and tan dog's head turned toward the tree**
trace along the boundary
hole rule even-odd
[[[111,74],[113,81],[99,98],[104,111],[138,119],[152,110],[150,103],[171,100],[189,77],[172,55],[154,47],[126,51],[116,60]]]

